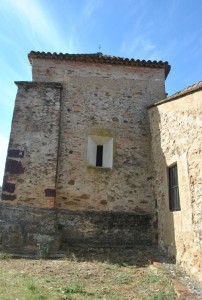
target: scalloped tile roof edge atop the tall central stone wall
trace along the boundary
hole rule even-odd
[[[145,61],[139,59],[129,59],[122,58],[117,56],[109,56],[102,54],[101,52],[94,54],[68,54],[68,53],[50,53],[50,52],[35,52],[31,51],[28,54],[30,63],[32,60],[37,59],[54,59],[54,60],[67,60],[67,61],[79,61],[79,62],[92,62],[92,63],[101,63],[101,64],[113,64],[113,65],[124,65],[124,66],[134,66],[134,67],[143,67],[143,68],[155,68],[155,69],[164,69],[165,77],[168,76],[170,71],[170,65],[168,62],[162,61]]]

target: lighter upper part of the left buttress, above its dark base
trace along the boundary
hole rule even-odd
[[[12,205],[53,208],[61,85],[17,85],[2,200]]]

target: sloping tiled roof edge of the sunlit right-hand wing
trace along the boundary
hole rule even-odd
[[[185,89],[183,89],[183,90],[181,90],[181,91],[179,91],[179,92],[177,92],[177,93],[175,93],[175,94],[173,94],[173,95],[171,95],[171,96],[169,96],[169,97],[167,97],[163,100],[160,100],[160,101],[148,106],[148,108],[158,106],[158,105],[161,105],[163,103],[166,103],[166,102],[169,102],[169,101],[172,101],[172,100],[176,100],[178,98],[181,98],[183,96],[192,94],[192,93],[197,92],[199,90],[202,90],[202,81],[199,81],[199,82],[197,82],[193,85],[190,85],[187,88],[185,88]]]

